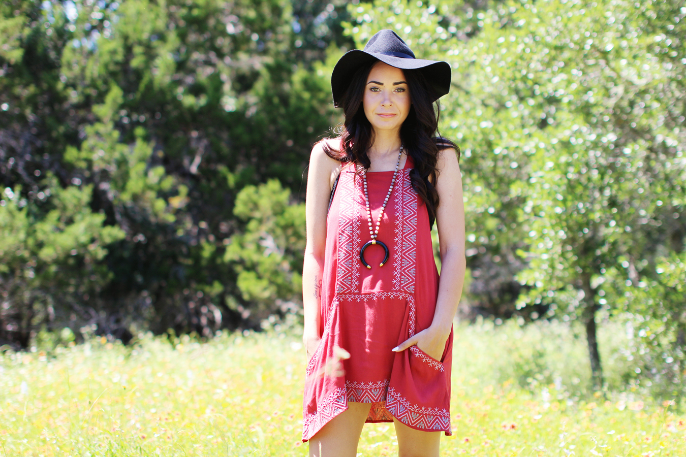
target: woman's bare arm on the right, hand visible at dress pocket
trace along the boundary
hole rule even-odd
[[[395,350],[403,351],[417,345],[429,356],[440,359],[450,335],[453,317],[458,309],[464,284],[464,203],[462,201],[462,173],[455,149],[444,149],[438,156],[436,190],[440,204],[436,211],[436,225],[440,243],[440,282],[434,321]]]

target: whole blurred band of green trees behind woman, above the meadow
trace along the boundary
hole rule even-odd
[[[458,318],[567,329],[596,388],[610,329],[616,382],[681,396],[685,18],[676,0],[5,0],[0,346],[297,328],[331,69],[390,28],[453,67]]]

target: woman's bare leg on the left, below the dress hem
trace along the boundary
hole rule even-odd
[[[322,427],[309,441],[310,457],[355,457],[370,403],[348,402],[348,409]]]

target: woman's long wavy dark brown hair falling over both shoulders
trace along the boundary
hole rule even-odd
[[[362,99],[367,77],[376,62],[379,60],[372,60],[355,72],[350,86],[342,97],[340,106],[345,118],[339,133],[342,149],[333,149],[326,141],[322,142],[327,156],[341,162],[356,162],[366,169],[371,165],[367,151],[374,142],[374,130],[364,114]],[[400,140],[407,156],[412,157],[414,161],[414,169],[410,171],[410,182],[427,207],[429,227],[432,227],[440,203],[438,191],[434,186],[438,175],[438,151],[454,148],[459,159],[460,148],[451,140],[438,135],[440,103],[436,101],[436,108],[434,103],[431,103],[430,100],[435,97],[424,74],[419,70],[403,70],[403,73],[407,88],[410,90],[412,106],[400,128]]]

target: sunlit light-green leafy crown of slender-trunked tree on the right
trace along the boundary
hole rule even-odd
[[[606,14],[602,4],[578,3],[566,6],[565,18],[560,8],[524,3],[486,14],[477,42],[459,50],[479,90],[470,90],[479,102],[464,121],[482,138],[492,126],[501,134],[475,150],[496,156],[479,158],[490,175],[482,188],[494,171],[510,178],[487,198],[520,203],[516,219],[495,208],[512,221],[503,230],[514,224],[528,245],[519,280],[531,290],[520,304],[547,302],[589,321],[600,307],[632,309],[639,301],[604,298],[608,289],[642,287],[653,275],[652,253],[683,249],[683,120],[662,100],[686,99],[671,63],[684,53],[676,43],[655,49],[667,24],[656,23],[650,5],[617,3]],[[683,17],[665,13],[668,21]],[[665,298],[666,308],[681,307]]]

